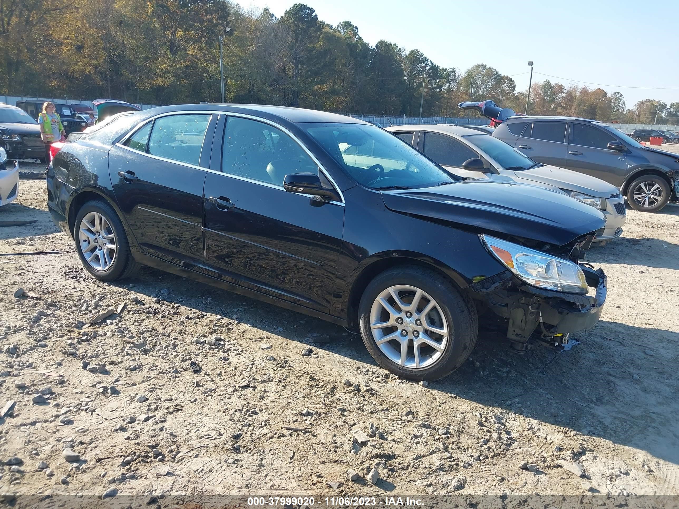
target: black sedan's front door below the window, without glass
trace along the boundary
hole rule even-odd
[[[205,265],[218,277],[314,309],[330,306],[344,207],[209,173]],[[229,200],[232,207],[220,208]]]

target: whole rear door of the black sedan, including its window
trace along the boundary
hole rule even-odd
[[[172,263],[200,265],[206,172],[198,164],[210,115],[172,117],[156,119],[152,128],[149,124],[140,128],[126,140],[130,148],[114,145],[109,174],[118,206],[141,248]],[[187,138],[189,143],[181,141]],[[143,153],[149,146],[158,157],[168,159]]]

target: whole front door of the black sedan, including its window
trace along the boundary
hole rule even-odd
[[[327,311],[344,206],[282,188],[285,174],[318,172],[282,130],[228,117],[224,140],[225,173],[209,172],[205,181],[206,269],[229,282]]]

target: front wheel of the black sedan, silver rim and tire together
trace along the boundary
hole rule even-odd
[[[383,272],[365,289],[361,337],[380,366],[399,377],[436,380],[469,357],[476,309],[439,274],[422,267]]]

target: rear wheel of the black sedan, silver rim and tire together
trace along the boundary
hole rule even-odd
[[[98,280],[130,276],[139,266],[132,258],[120,219],[105,202],[84,204],[75,218],[73,233],[80,261]]]

